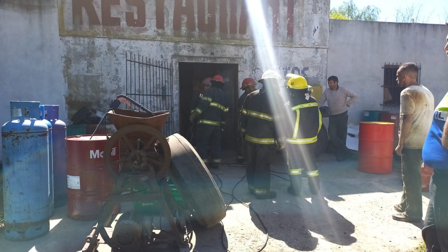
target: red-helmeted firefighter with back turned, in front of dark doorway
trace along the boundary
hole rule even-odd
[[[221,162],[221,134],[229,112],[228,99],[222,91],[224,79],[214,75],[211,88],[204,91],[198,106],[190,114],[190,122],[197,120],[197,152],[204,163],[218,168]],[[208,160],[208,152],[211,160]]]

